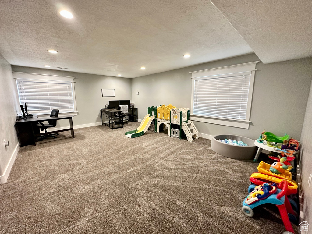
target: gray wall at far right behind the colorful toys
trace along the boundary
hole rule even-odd
[[[300,169],[301,169],[301,191],[303,198],[303,206],[301,211],[304,213],[304,218],[301,221],[308,221],[312,225],[312,182],[310,187],[308,185],[308,178],[312,173],[312,85],[310,88],[310,95],[305,111],[305,120],[303,123],[301,134],[301,149],[300,149]],[[300,221],[300,222],[301,222]],[[312,226],[311,226],[312,227]],[[309,227],[309,232],[312,233],[312,228]]]

